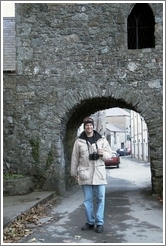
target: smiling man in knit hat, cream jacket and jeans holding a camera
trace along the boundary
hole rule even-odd
[[[71,157],[71,176],[78,180],[84,193],[86,223],[82,231],[95,228],[100,233],[104,225],[105,159],[111,158],[111,147],[105,137],[94,130],[94,121],[87,117],[83,121],[84,131],[75,140]],[[94,206],[93,201],[96,198]]]

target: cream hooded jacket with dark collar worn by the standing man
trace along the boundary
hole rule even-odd
[[[95,131],[96,132],[96,131]],[[83,138],[77,138],[71,157],[71,176],[78,176],[79,185],[107,184],[104,160],[111,157],[111,147],[105,137],[96,132],[97,146],[103,149],[103,156],[98,160],[89,160],[89,154],[96,151],[96,145]],[[89,145],[89,150],[88,150]]]

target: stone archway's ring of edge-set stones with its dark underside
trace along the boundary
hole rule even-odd
[[[94,88],[95,90],[95,88]],[[145,105],[147,104],[146,101],[143,101],[140,95],[136,93],[130,93],[129,88],[126,89],[126,94],[124,93],[124,90],[121,90],[120,88],[116,92],[114,92],[114,88],[112,90],[108,90],[106,93],[106,96],[94,96],[91,97],[93,89],[86,88],[86,95],[88,95],[88,99],[85,99],[84,93],[81,98],[84,98],[81,100],[78,98],[78,104],[75,105],[74,108],[72,108],[70,115],[69,113],[69,120],[66,125],[66,135],[64,136],[64,153],[65,153],[65,162],[66,162],[66,185],[67,187],[70,186],[70,182],[73,180],[70,178],[70,157],[71,157],[71,151],[73,147],[73,143],[76,137],[77,129],[81,125],[82,120],[99,110],[104,110],[112,107],[121,107],[121,108],[128,108],[133,111],[136,111],[140,113],[140,115],[143,115],[145,118],[145,121],[148,126],[148,132],[149,132],[149,144],[150,144],[150,165],[151,165],[151,172],[152,172],[152,190],[155,190],[154,180],[155,177],[153,176],[153,171],[155,172],[155,166],[153,165],[153,145],[151,143],[153,142],[153,139],[157,139],[158,137],[154,137],[154,125],[158,125],[158,131],[161,131],[161,122],[160,121],[160,113],[158,112],[159,118],[157,119],[156,113],[157,112],[151,112],[151,116],[149,115],[149,111],[145,112]],[[97,91],[97,89],[96,89]],[[104,90],[105,91],[105,90]],[[114,92],[112,95],[112,91]],[[89,92],[89,93],[88,93]],[[110,95],[109,95],[110,93]],[[98,90],[98,95],[104,94],[102,89]],[[72,98],[77,98],[78,95],[72,95]],[[123,99],[122,99],[123,98]],[[70,105],[72,105],[72,102],[70,102]],[[149,105],[150,107],[150,105]],[[159,107],[156,105],[156,107],[159,109]],[[149,117],[150,116],[150,117]],[[154,122],[154,125],[151,124],[152,119],[155,119],[156,122]],[[64,126],[65,128],[65,126]],[[158,134],[158,133],[157,133]],[[152,136],[152,137],[151,137]],[[152,138],[152,139],[151,139]],[[156,149],[157,150],[157,149]],[[160,151],[160,150],[157,150]],[[159,152],[158,152],[159,156]]]

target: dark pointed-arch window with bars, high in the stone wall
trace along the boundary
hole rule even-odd
[[[128,49],[154,48],[154,16],[150,6],[137,3],[127,19]]]

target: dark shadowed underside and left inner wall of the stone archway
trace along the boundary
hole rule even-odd
[[[77,136],[77,130],[81,125],[83,119],[86,116],[95,114],[100,110],[105,110],[114,107],[126,108],[136,112],[136,109],[131,105],[127,104],[124,100],[122,99],[115,100],[111,97],[89,99],[84,102],[81,102],[80,105],[77,106],[77,108],[73,109],[73,112],[71,113],[70,119],[67,123],[66,135],[64,139],[64,149],[65,149],[64,153],[65,153],[65,162],[66,162],[66,167],[65,167],[66,189],[68,189],[69,187],[75,184],[74,180],[70,177],[70,160],[71,160],[71,152],[72,152],[73,144]]]

